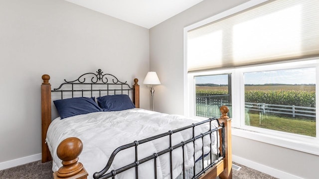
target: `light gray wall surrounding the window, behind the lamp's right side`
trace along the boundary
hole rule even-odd
[[[204,0],[150,29],[150,68],[158,73],[162,83],[155,87],[156,111],[184,114],[183,28],[245,1],[248,0]],[[236,136],[232,145],[233,155],[252,163],[306,179],[318,177],[315,166],[319,156]]]

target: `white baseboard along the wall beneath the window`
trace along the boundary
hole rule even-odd
[[[301,177],[294,176],[292,174],[289,174],[289,173],[286,173],[283,171],[279,171],[277,169],[274,169],[274,168],[271,168],[268,166],[264,166],[262,164],[258,164],[256,162],[253,162],[253,161],[250,161],[250,160],[238,157],[238,156],[232,155],[232,159],[234,162],[236,162],[238,164],[244,165],[246,167],[249,167],[251,169],[260,171],[262,173],[268,174],[270,176],[273,176],[273,177],[276,177],[279,179],[303,179]]]

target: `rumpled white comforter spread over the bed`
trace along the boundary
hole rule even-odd
[[[130,109],[117,112],[96,112],[85,115],[78,115],[60,120],[52,121],[47,132],[46,142],[53,158],[53,172],[61,166],[61,160],[56,155],[59,143],[68,137],[77,137],[83,143],[83,151],[79,156],[87,172],[89,179],[93,178],[95,172],[101,171],[108,162],[112,152],[125,144],[142,140],[151,136],[165,133],[180,127],[197,123],[198,120],[188,119],[179,115],[167,115],[143,109]],[[213,123],[212,123],[213,124]],[[214,122],[215,124],[215,122]],[[209,130],[209,124],[195,127],[195,135]],[[192,138],[192,130],[188,129],[172,135],[172,145]],[[212,152],[216,154],[216,141],[213,137]],[[204,138],[204,153],[209,152],[209,136]],[[152,142],[138,146],[138,158],[158,153],[169,147],[169,138],[164,137]],[[201,140],[195,142],[195,158],[201,156]],[[117,154],[113,161],[113,169],[124,167],[135,161],[134,147]],[[182,150],[173,151],[173,178],[182,172]],[[193,144],[185,147],[185,168],[193,166]],[[169,154],[160,156],[157,160],[158,179],[170,178]],[[135,169],[130,169],[117,175],[118,179],[135,178]],[[154,177],[154,161],[148,161],[139,166],[139,179],[152,179]]]

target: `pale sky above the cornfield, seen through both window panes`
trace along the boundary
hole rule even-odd
[[[227,74],[195,77],[196,84],[227,84]],[[316,68],[285,69],[244,73],[245,84],[315,84]]]

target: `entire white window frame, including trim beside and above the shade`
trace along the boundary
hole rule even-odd
[[[309,137],[297,134],[290,134],[281,131],[274,131],[268,129],[262,129],[257,127],[245,126],[244,121],[244,72],[250,71],[266,71],[266,70],[276,70],[276,69],[291,69],[291,68],[306,68],[306,67],[316,67],[317,79],[316,79],[316,106],[319,107],[319,59],[302,59],[299,61],[289,61],[289,62],[277,62],[270,63],[266,65],[254,65],[248,67],[232,68],[232,69],[219,69],[210,71],[200,71],[200,72],[188,72],[187,71],[187,31],[207,24],[209,22],[218,20],[220,18],[226,17],[228,15],[234,14],[241,10],[250,8],[254,5],[263,3],[268,0],[250,0],[244,4],[226,10],[220,14],[212,16],[208,19],[202,20],[190,26],[184,28],[184,115],[189,117],[194,116],[195,105],[194,105],[194,94],[195,94],[195,84],[194,76],[202,75],[215,75],[215,74],[225,74],[231,73],[232,77],[232,135],[264,142],[280,147],[285,147],[293,150],[298,150],[319,156],[319,120],[316,121],[316,137]],[[283,64],[285,63],[285,68]],[[240,80],[238,80],[240,79]],[[239,108],[239,109],[237,109]],[[316,110],[316,116],[318,119],[319,110]],[[238,118],[239,117],[239,118]],[[202,118],[202,117],[197,117]]]

